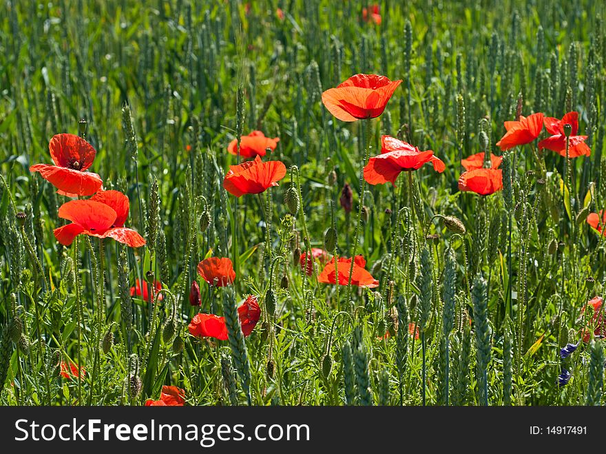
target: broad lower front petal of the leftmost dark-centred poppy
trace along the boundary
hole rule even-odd
[[[56,165],[36,164],[30,172],[39,172],[40,176],[68,196],[91,196],[103,185],[101,176],[92,172],[57,167]]]

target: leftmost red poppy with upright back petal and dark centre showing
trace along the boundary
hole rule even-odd
[[[30,172],[39,172],[42,178],[59,189],[59,194],[92,196],[101,189],[101,176],[85,172],[96,154],[90,143],[74,134],[56,134],[50,139],[48,149],[54,165],[32,165]]]

